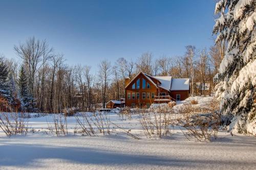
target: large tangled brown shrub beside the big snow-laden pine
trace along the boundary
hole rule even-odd
[[[207,108],[184,105],[178,110],[181,116],[173,120],[172,124],[179,126],[188,140],[196,138],[199,141],[210,141],[212,135],[217,138],[221,125],[221,113],[218,108],[216,100],[212,100]]]

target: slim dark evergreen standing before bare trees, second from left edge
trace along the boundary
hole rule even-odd
[[[20,67],[19,70],[19,98],[24,111],[28,111],[33,108],[33,98],[28,90],[28,79],[24,70],[24,66]]]

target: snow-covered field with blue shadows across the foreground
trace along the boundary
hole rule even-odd
[[[199,104],[208,98],[197,98]],[[189,101],[180,102],[176,107]],[[87,113],[91,115],[92,113]],[[80,116],[81,118],[81,116]],[[110,114],[111,134],[74,135],[79,127],[68,117],[68,135],[49,133],[52,115],[29,118],[29,133],[8,138],[0,131],[0,169],[255,169],[256,138],[221,131],[212,142],[188,141],[174,127],[163,138],[145,137],[138,115]],[[46,133],[47,132],[47,133]]]

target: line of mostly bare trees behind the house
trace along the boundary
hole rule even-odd
[[[4,57],[0,60],[1,100],[22,111],[57,113],[67,108],[92,111],[105,107],[109,100],[124,98],[125,78],[132,79],[140,71],[153,76],[190,78],[191,84],[213,85],[222,58],[221,48],[218,45],[209,50],[197,50],[192,45],[185,48],[184,56],[178,57],[156,58],[147,52],[130,61],[103,60],[95,74],[89,65],[65,64],[63,55],[57,54],[46,40],[31,37],[14,46],[22,63]]]

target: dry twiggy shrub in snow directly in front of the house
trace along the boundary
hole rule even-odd
[[[143,110],[139,121],[145,136],[147,138],[151,138],[153,135],[166,136],[169,132],[170,115],[168,106]]]

